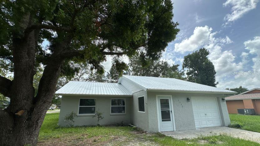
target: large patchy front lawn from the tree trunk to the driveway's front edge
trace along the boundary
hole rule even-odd
[[[259,145],[226,135],[174,139],[160,133],[146,133],[130,126],[82,126],[62,128],[59,113],[46,114],[37,145]]]

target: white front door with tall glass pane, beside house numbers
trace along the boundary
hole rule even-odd
[[[173,116],[170,97],[158,97],[160,131],[173,131]]]

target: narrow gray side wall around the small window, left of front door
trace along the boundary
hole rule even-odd
[[[145,99],[145,112],[138,111],[138,99],[137,97],[144,96]],[[148,124],[148,109],[149,105],[147,102],[147,94],[146,91],[141,90],[133,93],[133,106],[132,106],[132,124],[142,128],[143,130],[149,131]]]

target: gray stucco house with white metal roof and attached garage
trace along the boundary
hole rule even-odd
[[[148,132],[228,126],[224,96],[236,92],[174,78],[123,75],[118,83],[71,81],[62,95],[59,125],[74,111],[75,125],[132,124]]]

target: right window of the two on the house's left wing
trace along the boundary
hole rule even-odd
[[[125,99],[111,99],[111,114],[125,113]]]

